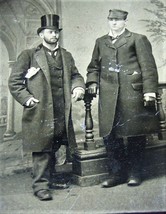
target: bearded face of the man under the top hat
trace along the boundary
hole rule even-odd
[[[44,29],[39,35],[48,44],[56,44],[59,40],[59,30]]]

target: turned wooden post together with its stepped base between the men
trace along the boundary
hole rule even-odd
[[[85,91],[85,142],[84,149],[77,149],[73,155],[73,182],[80,186],[91,186],[108,178],[105,147],[97,147],[93,135],[91,102],[93,95]]]

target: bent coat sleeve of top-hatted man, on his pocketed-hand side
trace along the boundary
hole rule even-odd
[[[29,64],[30,56],[28,50],[25,50],[18,56],[8,80],[10,93],[21,105],[32,97],[25,84],[25,74]]]

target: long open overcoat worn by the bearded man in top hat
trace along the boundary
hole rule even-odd
[[[66,132],[72,152],[76,142],[71,120],[71,93],[75,87],[85,88],[85,84],[75,66],[72,55],[63,48],[60,48],[60,51],[64,72]],[[31,67],[40,68],[40,70],[25,83],[24,77]],[[50,73],[43,46],[25,50],[20,54],[9,77],[9,89],[21,105],[24,105],[32,96],[40,101],[33,107],[24,107],[22,118],[24,150],[39,152],[43,149],[50,149],[51,139],[54,135],[54,114]]]

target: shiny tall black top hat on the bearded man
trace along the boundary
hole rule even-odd
[[[59,16],[56,14],[47,14],[41,17],[41,27],[38,28],[37,34],[39,34],[44,29],[53,29],[53,30],[59,30],[62,29],[59,28]]]

